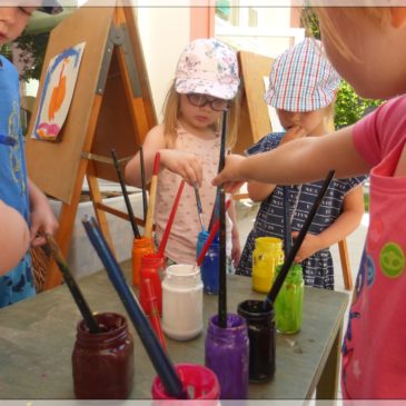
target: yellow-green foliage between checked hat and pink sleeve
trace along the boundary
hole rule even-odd
[[[354,89],[343,80],[339,85],[337,99],[334,105],[334,125],[336,128],[350,126],[382,103],[383,100],[362,99],[356,95]]]

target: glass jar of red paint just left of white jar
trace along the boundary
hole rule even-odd
[[[145,254],[141,258],[140,283],[139,283],[139,303],[143,311],[150,316],[150,300],[148,299],[147,290],[142,284],[142,280],[149,279],[154,293],[157,297],[157,307],[159,315],[162,315],[162,284],[161,277],[165,268],[165,258],[162,254],[149,252]]]

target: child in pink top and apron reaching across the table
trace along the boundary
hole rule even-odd
[[[255,157],[227,158],[215,185],[304,182],[370,172],[369,229],[343,345],[345,398],[406,398],[406,9],[316,8],[326,53],[366,98],[392,98],[354,126]],[[309,162],[304,165],[304,162]],[[266,170],[264,170],[266,168]]]

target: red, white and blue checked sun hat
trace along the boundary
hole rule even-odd
[[[274,61],[265,101],[286,111],[319,110],[334,100],[339,82],[323,43],[306,38]]]

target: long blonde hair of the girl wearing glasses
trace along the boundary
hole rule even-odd
[[[175,90],[175,79],[169,88],[164,103],[164,133],[167,147],[175,148],[177,138],[177,128],[179,119],[180,93]],[[237,130],[239,125],[240,95],[239,92],[232,99],[228,113],[228,130],[226,146],[232,148],[237,140]],[[221,119],[210,126],[215,132],[221,131]]]

